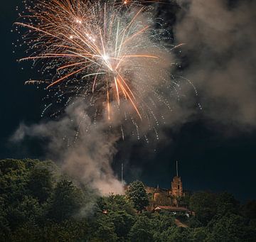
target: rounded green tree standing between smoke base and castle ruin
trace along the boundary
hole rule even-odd
[[[149,197],[142,182],[132,182],[127,190],[127,197],[137,211],[142,212],[149,205]]]

